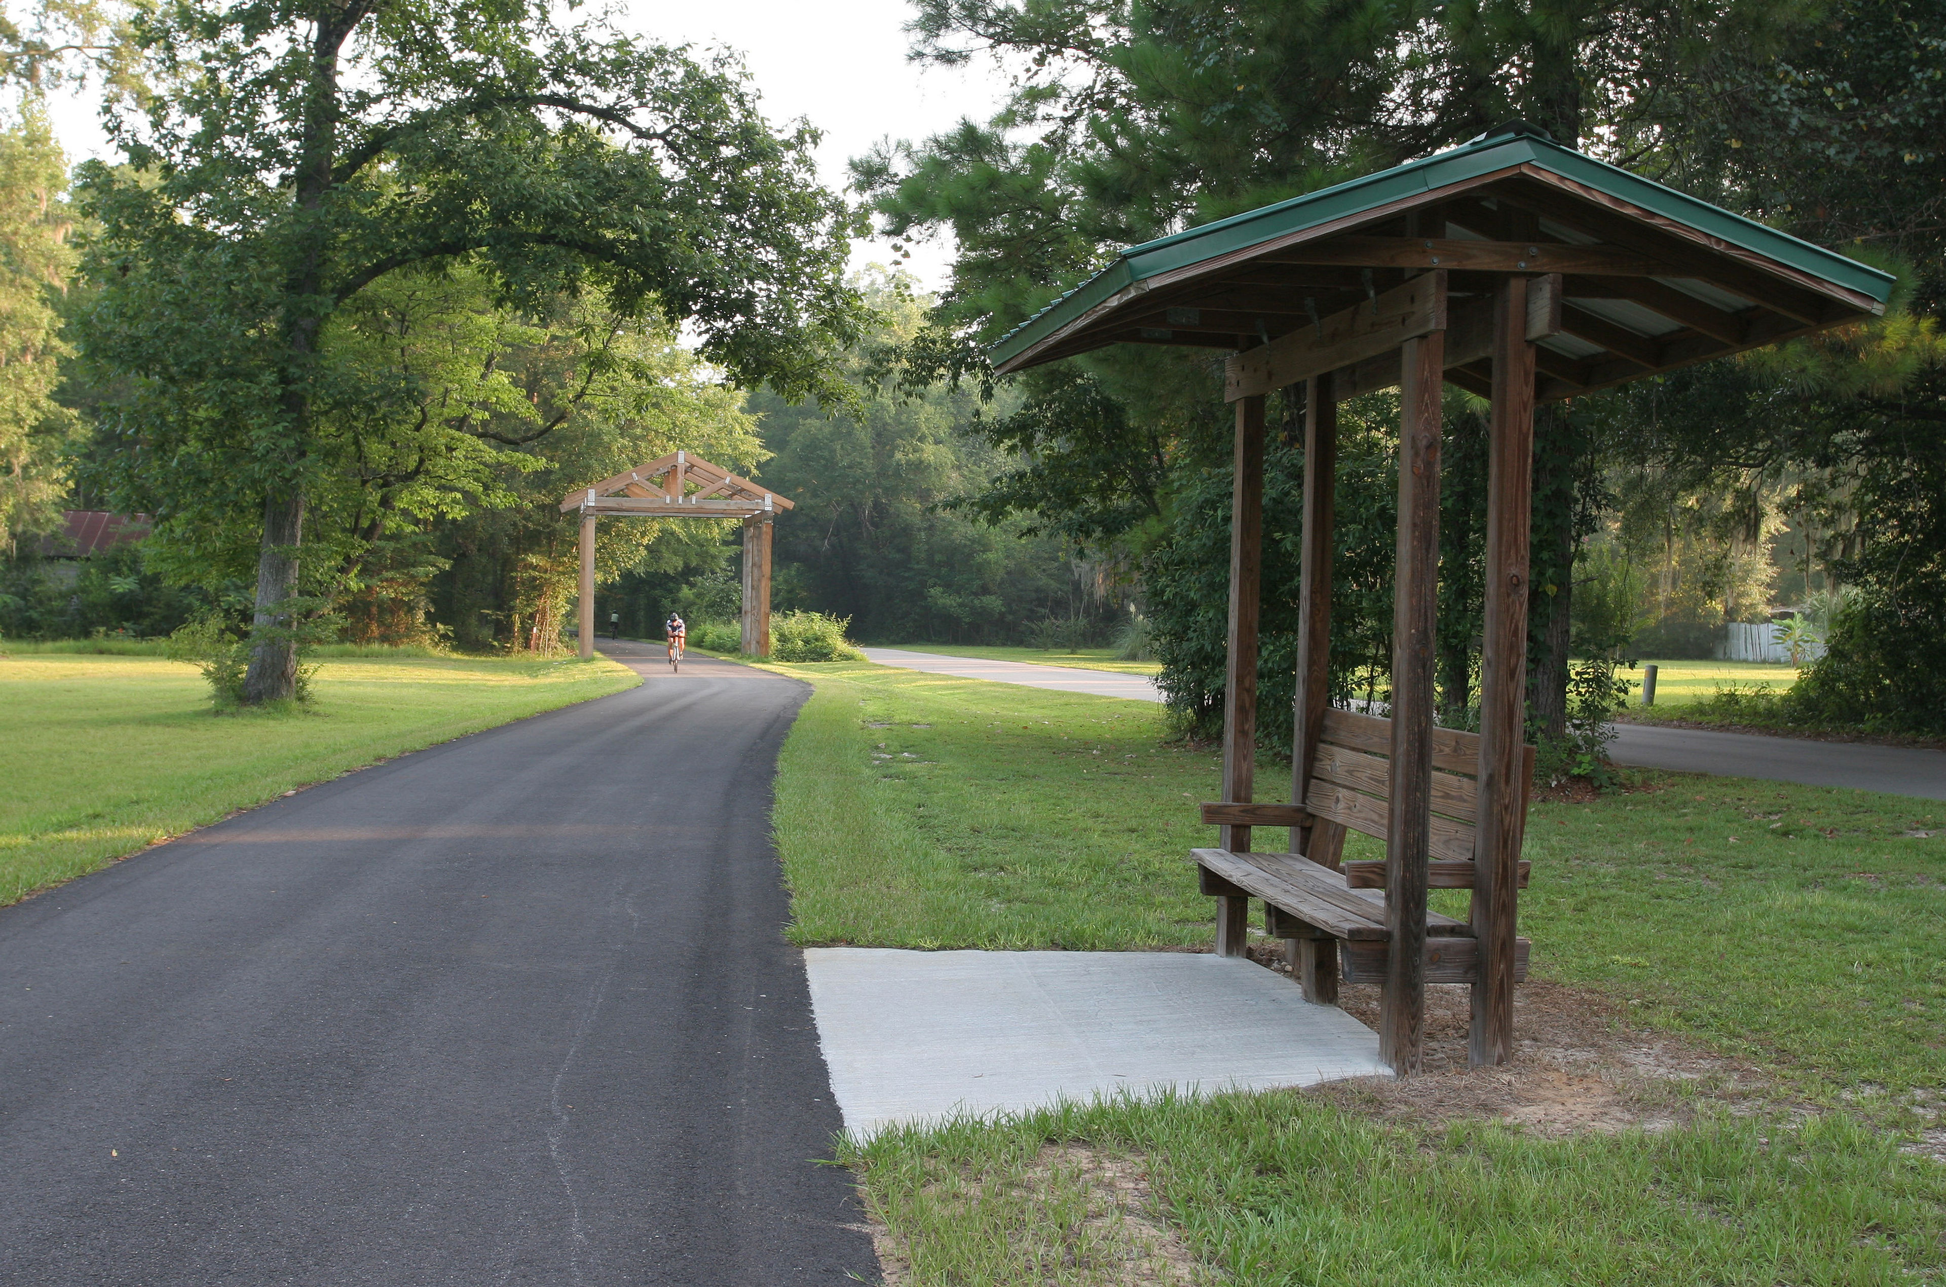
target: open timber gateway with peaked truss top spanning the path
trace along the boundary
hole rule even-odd
[[[560,512],[580,510],[582,516],[582,660],[595,654],[595,520],[603,514],[743,520],[741,646],[751,656],[771,656],[771,524],[780,510],[790,508],[790,500],[776,493],[689,452],[671,452],[594,487],[570,491],[560,500]]]

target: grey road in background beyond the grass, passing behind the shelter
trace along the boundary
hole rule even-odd
[[[1074,666],[1033,662],[991,662],[903,648],[866,648],[883,666],[905,666],[965,680],[992,680],[1063,693],[1099,693],[1135,701],[1162,701],[1154,681]],[[1642,769],[1679,769],[1724,777],[1761,777],[1806,787],[1855,787],[1892,794],[1946,800],[1946,752],[1858,742],[1812,742],[1808,738],[1763,738],[1748,732],[1709,732],[1699,728],[1656,728],[1617,724],[1609,748],[1615,763]]]

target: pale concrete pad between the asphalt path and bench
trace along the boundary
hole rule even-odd
[[[1191,952],[808,948],[847,1129],[1098,1094],[1387,1075],[1378,1036],[1251,962]]]

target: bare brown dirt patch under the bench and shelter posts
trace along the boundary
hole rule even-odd
[[[1282,970],[1273,950],[1257,960]],[[1347,1014],[1378,1028],[1378,993],[1376,983],[1347,983],[1339,1001]],[[1611,997],[1539,981],[1514,991],[1514,1059],[1469,1069],[1469,1011],[1467,987],[1428,985],[1423,1075],[1358,1077],[1314,1094],[1387,1120],[1491,1118],[1541,1135],[1570,1135],[1664,1129],[1693,1116],[1697,1092],[1736,1102],[1761,1083],[1748,1065],[1631,1026],[1627,1007]]]

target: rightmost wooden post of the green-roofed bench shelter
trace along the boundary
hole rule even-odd
[[[1514,1053],[1514,927],[1526,822],[1528,530],[1533,491],[1533,345],[1528,278],[1500,282],[1493,313],[1487,465],[1487,621],[1479,691],[1479,812],[1473,824],[1473,933],[1479,977],[1467,1063]]]

